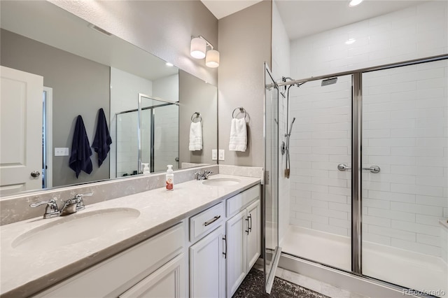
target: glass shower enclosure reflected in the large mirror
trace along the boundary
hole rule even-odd
[[[179,103],[139,94],[139,108],[118,113],[117,177],[179,169]]]

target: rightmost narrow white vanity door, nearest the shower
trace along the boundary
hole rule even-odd
[[[261,253],[260,200],[247,207],[249,234],[247,236],[247,271],[251,270]]]

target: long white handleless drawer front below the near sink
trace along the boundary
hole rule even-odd
[[[182,253],[184,227],[175,225],[36,297],[117,297]]]

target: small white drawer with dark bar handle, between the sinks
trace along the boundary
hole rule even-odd
[[[223,202],[208,208],[190,218],[190,241],[195,242],[200,237],[213,231],[223,221],[225,216]]]

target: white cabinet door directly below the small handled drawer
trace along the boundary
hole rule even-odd
[[[225,297],[224,227],[190,247],[190,297]]]

